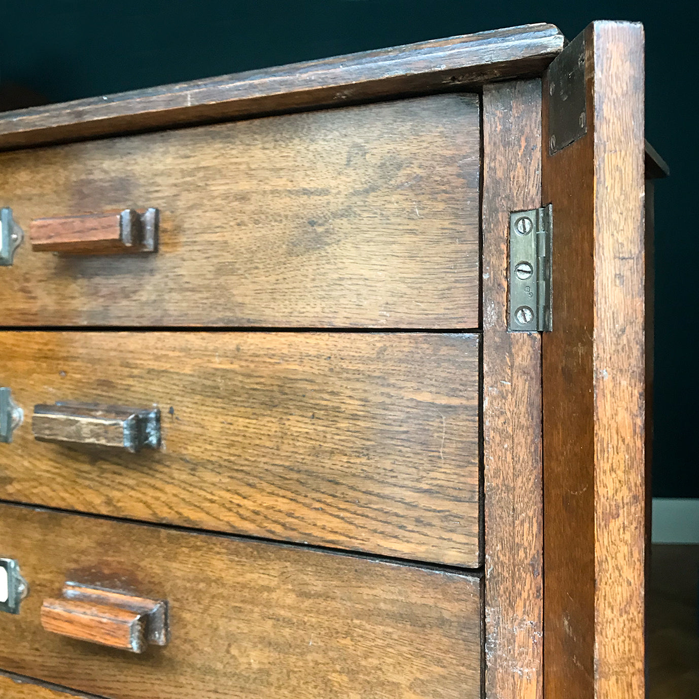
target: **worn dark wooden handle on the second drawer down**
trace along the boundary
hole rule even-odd
[[[160,447],[160,411],[71,401],[35,405],[31,430],[42,442],[119,447],[136,453],[142,447]]]

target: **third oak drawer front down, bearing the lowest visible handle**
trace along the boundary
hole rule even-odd
[[[113,699],[477,699],[480,579],[443,570],[0,505],[31,585],[0,667]],[[46,633],[63,581],[170,602],[143,655]]]

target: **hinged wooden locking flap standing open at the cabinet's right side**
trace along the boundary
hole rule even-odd
[[[586,29],[587,134],[543,159],[545,693],[644,696],[644,70],[640,24]],[[548,143],[545,82],[544,143]]]

